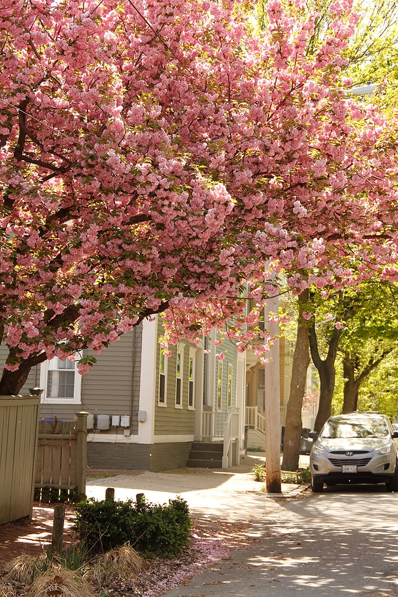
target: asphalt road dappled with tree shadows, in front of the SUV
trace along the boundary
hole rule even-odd
[[[242,496],[244,498],[244,496]],[[398,493],[338,486],[277,501],[258,541],[164,597],[398,595]]]

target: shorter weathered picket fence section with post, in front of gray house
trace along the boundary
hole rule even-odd
[[[86,491],[87,416],[76,413],[76,421],[40,421],[36,456],[35,488],[41,497],[51,490],[51,501]],[[45,500],[43,500],[45,501]]]

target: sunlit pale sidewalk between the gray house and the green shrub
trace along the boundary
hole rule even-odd
[[[301,457],[300,466],[307,466],[308,457]],[[87,497],[102,500],[107,487],[115,489],[116,500],[135,500],[144,493],[152,503],[166,503],[176,496],[189,505],[192,518],[198,520],[224,519],[249,522],[262,518],[280,500],[292,498],[307,490],[307,485],[282,484],[281,494],[263,491],[265,482],[254,481],[252,469],[263,463],[264,454],[248,453],[239,466],[230,469],[185,468],[160,473],[119,473],[98,478],[95,472],[87,482]]]

